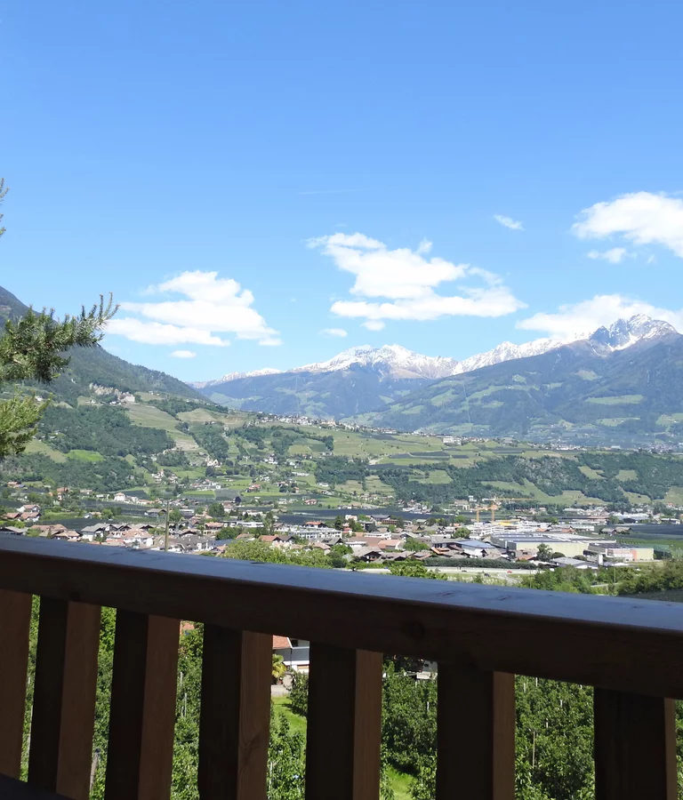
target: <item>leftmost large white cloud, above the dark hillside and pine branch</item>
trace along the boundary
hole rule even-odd
[[[149,286],[145,295],[174,293],[177,300],[122,303],[121,308],[141,316],[116,317],[108,332],[148,344],[226,345],[219,334],[232,333],[237,339],[272,344],[277,331],[266,324],[253,308],[253,294],[218,272],[183,272],[162,284]]]

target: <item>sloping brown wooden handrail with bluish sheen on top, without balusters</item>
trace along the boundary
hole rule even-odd
[[[683,698],[683,606],[0,536],[0,588]]]

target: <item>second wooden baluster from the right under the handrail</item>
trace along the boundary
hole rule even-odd
[[[437,800],[514,800],[515,676],[439,664],[437,723]]]

